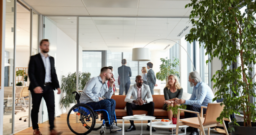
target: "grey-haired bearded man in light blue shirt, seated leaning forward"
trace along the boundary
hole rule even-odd
[[[189,74],[190,86],[193,87],[192,95],[189,100],[178,99],[176,101],[177,104],[186,104],[187,110],[201,112],[201,106],[207,107],[208,103],[216,103],[213,102],[214,94],[212,89],[202,82],[200,75],[198,72],[193,71]],[[203,114],[206,113],[206,108],[203,108]],[[195,113],[190,113],[185,111],[185,118],[197,117]],[[185,130],[181,130],[185,132]],[[187,128],[187,132],[191,132],[190,135],[199,135],[198,130],[196,128],[189,127]]]

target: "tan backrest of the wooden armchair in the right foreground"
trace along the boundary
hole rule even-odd
[[[218,123],[216,119],[220,116],[223,108],[224,105],[221,106],[221,103],[208,103],[203,125]]]

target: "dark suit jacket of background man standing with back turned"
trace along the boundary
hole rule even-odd
[[[124,82],[123,84],[130,82],[130,77],[131,77],[130,67],[128,67],[126,65],[119,67],[118,75],[120,76],[120,82]]]

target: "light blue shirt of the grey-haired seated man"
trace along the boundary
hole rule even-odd
[[[193,88],[191,98],[186,100],[185,104],[207,107],[208,103],[216,103],[216,101],[213,102],[213,99],[212,89],[204,82],[198,82]]]

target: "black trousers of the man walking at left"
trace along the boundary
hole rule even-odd
[[[39,107],[41,104],[42,97],[44,98],[44,101],[47,106],[48,111],[48,117],[49,117],[49,124],[50,124],[50,130],[54,128],[54,115],[55,115],[55,98],[54,98],[54,91],[53,88],[48,85],[45,86],[45,89],[43,90],[43,93],[36,94],[31,90],[32,95],[32,110],[31,110],[31,120],[32,120],[32,128],[38,129],[38,112]]]

